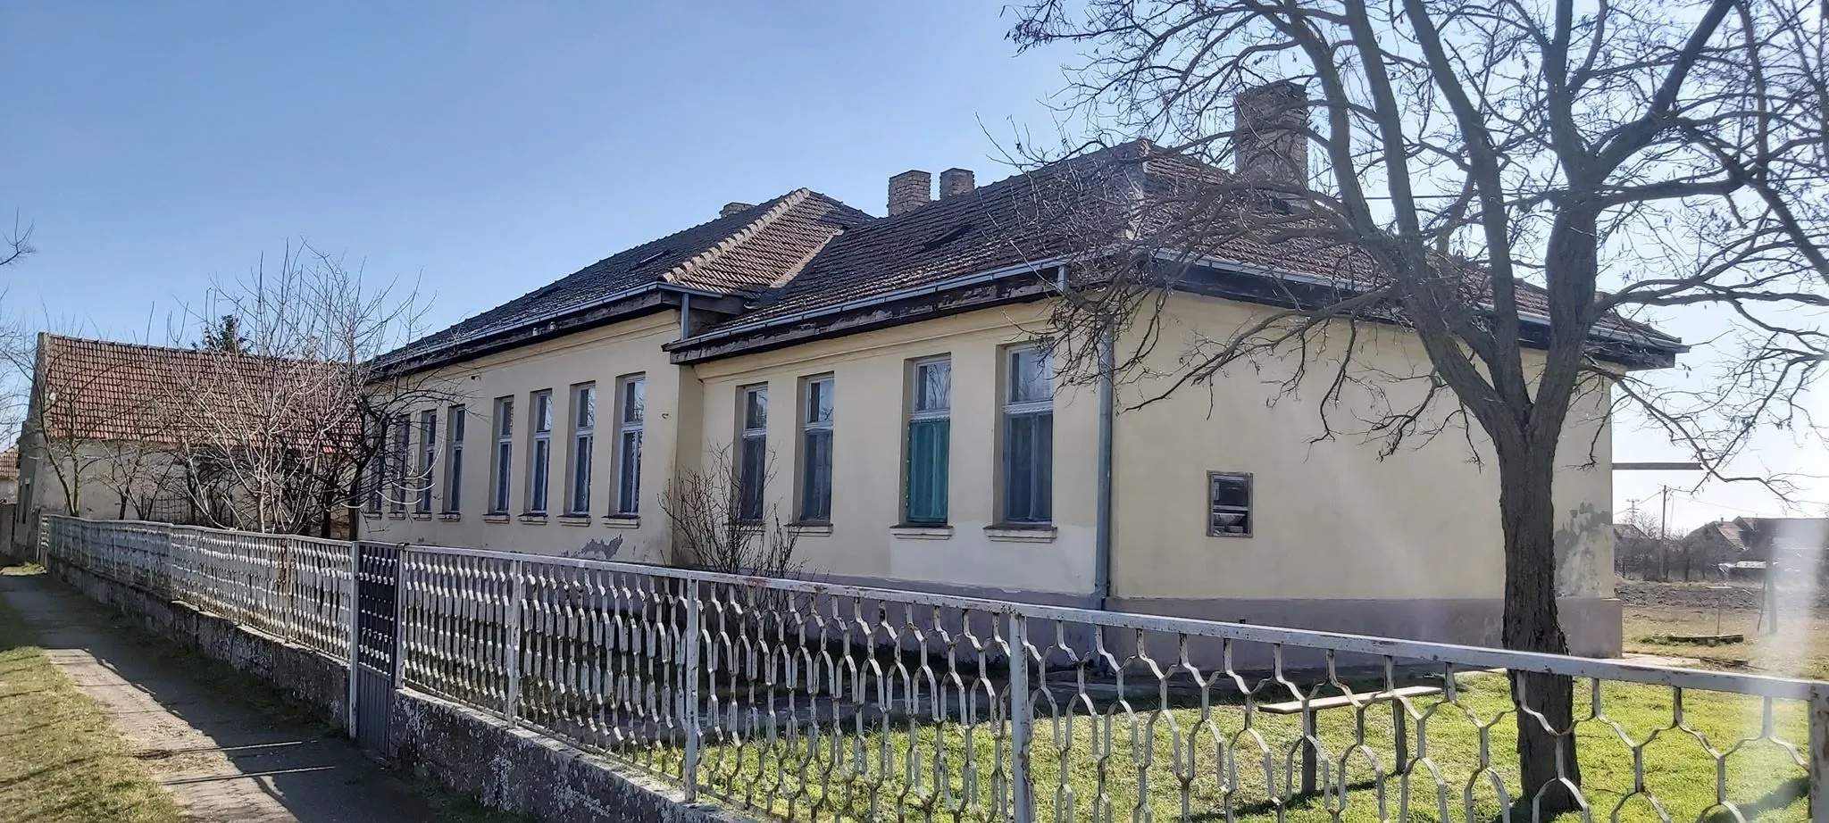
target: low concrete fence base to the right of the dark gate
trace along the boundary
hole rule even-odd
[[[395,755],[490,808],[565,823],[739,823],[719,807],[686,803],[660,779],[437,697],[401,691]]]

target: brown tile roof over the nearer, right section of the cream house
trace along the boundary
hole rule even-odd
[[[1096,225],[1110,229],[1128,219],[1119,203],[1128,201],[1128,187],[1138,187],[1138,177],[1143,192],[1154,196],[1147,198],[1152,203],[1196,201],[1189,194],[1200,187],[1236,187],[1231,172],[1165,152],[1149,141],[1064,159],[847,230],[827,243],[799,276],[757,300],[754,311],[710,333],[732,333],[900,289],[1074,254],[1085,249],[1090,232],[1099,230]],[[1176,214],[1165,214],[1172,208],[1141,216],[1136,232],[1149,234],[1172,225]],[[1311,274],[1342,285],[1375,283],[1381,276],[1366,254],[1311,238],[1275,243],[1249,236],[1214,238],[1203,252],[1231,263]],[[1465,293],[1469,300],[1485,300],[1491,278],[1469,269]],[[1518,282],[1518,304],[1524,313],[1549,315],[1546,293],[1527,282]],[[1600,326],[1642,335],[1652,342],[1677,342],[1619,316],[1604,318]]]

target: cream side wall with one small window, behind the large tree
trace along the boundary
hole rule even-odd
[[[1183,296],[1169,304],[1161,342],[1149,358],[1163,373],[1202,331],[1222,338],[1267,309]],[[1310,379],[1278,397],[1295,358],[1233,364],[1209,386],[1183,386],[1172,397],[1116,422],[1114,466],[1118,532],[1112,549],[1114,594],[1127,598],[1498,598],[1503,556],[1498,525],[1498,472],[1474,426],[1379,457],[1363,435],[1375,408],[1405,410],[1421,397],[1421,342],[1396,327],[1361,326],[1355,377],[1346,402],[1328,408],[1335,439],[1324,432],[1322,393],[1344,349],[1344,327],[1311,349]],[[1535,353],[1527,353],[1531,357]],[[1167,377],[1119,388],[1119,406],[1160,393]],[[1454,408],[1445,397],[1427,422]],[[1555,485],[1560,540],[1586,567],[1569,567],[1564,594],[1611,596],[1611,439],[1606,391],[1589,391],[1571,413]],[[1425,424],[1427,428],[1427,424]],[[1597,468],[1588,463],[1589,444]],[[1480,463],[1474,461],[1478,454]],[[1251,472],[1251,538],[1207,536],[1207,472]]]

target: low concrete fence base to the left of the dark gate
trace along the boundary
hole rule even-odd
[[[267,680],[309,706],[322,721],[344,728],[349,706],[349,671],[344,664],[57,560],[48,569],[91,600],[119,607],[152,635]]]

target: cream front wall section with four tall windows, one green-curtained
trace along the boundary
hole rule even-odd
[[[792,516],[799,386],[829,373],[836,397],[832,529],[799,538],[807,571],[1083,594],[1092,589],[1096,508],[1097,404],[1090,391],[1063,390],[1054,404],[1054,540],[1008,541],[986,532],[997,521],[999,357],[1004,346],[1028,340],[1026,329],[1043,318],[1035,305],[1015,305],[699,364],[702,448],[732,444],[739,388],[766,382],[775,454],[766,499]],[[953,360],[953,532],[914,540],[891,532],[902,514],[909,362],[936,355]]]

